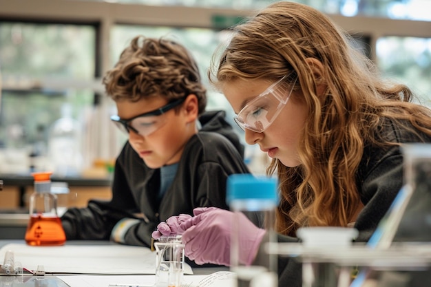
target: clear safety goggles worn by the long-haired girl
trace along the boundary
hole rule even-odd
[[[280,78],[256,98],[253,98],[233,119],[240,128],[262,133],[277,118],[291,97],[297,76],[286,81],[291,74]]]

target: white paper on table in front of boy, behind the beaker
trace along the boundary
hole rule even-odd
[[[6,244],[0,249],[1,262],[6,251],[12,251],[15,262],[21,262],[23,268],[34,271],[42,265],[46,273],[112,275],[156,273],[156,252],[143,246]],[[185,264],[184,268],[185,274],[193,274],[188,264]]]

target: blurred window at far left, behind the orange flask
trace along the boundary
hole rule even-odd
[[[85,118],[94,101],[95,39],[92,25],[0,22],[3,156],[46,156],[57,119]],[[28,169],[9,163],[3,172]]]

